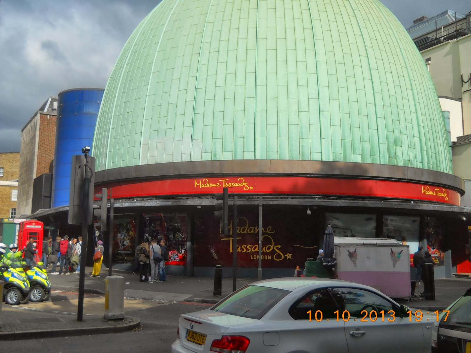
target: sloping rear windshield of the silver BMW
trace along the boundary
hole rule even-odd
[[[289,290],[284,289],[246,286],[214,305],[211,310],[251,319],[260,319],[288,293]]]

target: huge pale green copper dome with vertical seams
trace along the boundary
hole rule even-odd
[[[377,0],[162,0],[122,49],[97,170],[335,160],[451,173],[437,93]]]

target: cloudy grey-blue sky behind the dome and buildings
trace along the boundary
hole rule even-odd
[[[0,152],[49,96],[105,88],[124,43],[159,0],[0,0]],[[409,27],[422,15],[466,14],[470,0],[382,0]],[[447,3],[447,5],[445,5]]]

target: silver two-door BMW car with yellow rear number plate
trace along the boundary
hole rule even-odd
[[[181,315],[172,353],[430,352],[434,321],[361,284],[279,278]]]

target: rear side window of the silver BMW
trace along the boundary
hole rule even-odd
[[[335,311],[339,310],[339,307],[329,294],[327,289],[316,289],[309,292],[304,297],[297,300],[290,308],[290,315],[295,320],[309,320],[309,312],[311,320],[320,321],[326,319],[336,318]],[[320,313],[316,312],[319,311]]]

